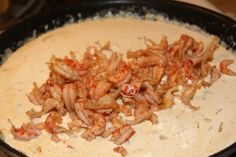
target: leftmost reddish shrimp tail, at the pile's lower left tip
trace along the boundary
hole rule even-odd
[[[20,128],[16,128],[13,123],[8,120],[11,124],[11,134],[14,136],[15,139],[29,141],[33,138],[38,137],[41,135],[41,130],[38,129],[33,122],[28,122],[22,124]]]

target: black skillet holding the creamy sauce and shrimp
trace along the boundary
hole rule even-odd
[[[59,6],[53,10],[43,10],[40,15],[31,19],[21,21],[14,27],[8,29],[0,35],[0,54],[4,55],[7,48],[16,50],[27,38],[33,34],[38,36],[48,30],[60,27],[68,23],[73,17],[74,21],[79,21],[96,15],[104,15],[109,10],[112,13],[118,13],[120,10],[133,12],[143,17],[147,9],[154,10],[169,19],[194,24],[201,27],[210,34],[220,37],[221,42],[225,43],[227,48],[236,50],[236,22],[216,12],[176,1],[161,0],[90,0],[80,4]],[[48,29],[45,29],[47,24]],[[2,60],[0,60],[2,62]],[[8,156],[26,157],[21,152],[10,147],[3,140],[0,140],[0,148]],[[235,156],[236,143],[224,150],[212,155],[211,157],[229,157]]]

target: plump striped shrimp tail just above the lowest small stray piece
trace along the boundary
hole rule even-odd
[[[133,135],[135,134],[134,129],[130,124],[123,125],[118,128],[111,137],[111,141],[113,141],[116,145],[122,145],[127,142]]]

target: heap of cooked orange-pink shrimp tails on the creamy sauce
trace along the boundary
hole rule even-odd
[[[87,141],[109,138],[117,145],[114,151],[125,156],[122,144],[134,136],[133,125],[156,124],[157,111],[172,107],[175,97],[197,110],[191,99],[199,89],[210,87],[222,73],[236,75],[228,68],[231,59],[222,60],[219,67],[212,65],[216,37],[207,46],[185,34],[171,44],[166,37],[160,43],[147,38],[144,42],[145,49],[128,51],[126,56],[113,51],[109,42],[88,47],[81,60],[73,52],[64,58],[52,56],[49,78],[41,86],[34,83],[28,95],[41,110],[28,111],[31,122],[20,128],[12,124],[12,135],[31,140],[46,130],[60,142],[60,133],[81,132]],[[44,114],[44,122],[33,123]],[[66,114],[67,127],[62,126]]]

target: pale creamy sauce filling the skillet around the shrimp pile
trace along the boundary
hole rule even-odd
[[[5,142],[30,157],[120,156],[113,151],[115,145],[102,138],[87,142],[79,135],[75,138],[64,135],[65,143],[54,143],[50,135],[43,132],[31,141],[17,141],[10,134],[7,119],[20,126],[29,121],[26,111],[39,109],[28,101],[26,94],[32,90],[33,82],[41,85],[47,79],[46,63],[53,54],[63,57],[73,51],[81,57],[85,48],[97,41],[110,41],[119,52],[126,52],[144,48],[141,39],[144,36],[159,42],[165,35],[171,43],[181,34],[205,43],[211,41],[209,35],[170,23],[111,18],[67,25],[25,44],[0,67],[0,131]],[[218,65],[223,58],[236,60],[234,55],[220,47],[214,62]],[[231,65],[231,69],[236,71],[236,64]],[[173,108],[157,113],[158,124],[145,122],[134,126],[136,134],[124,144],[128,157],[202,157],[224,149],[236,141],[235,93],[236,77],[222,75],[212,87],[199,91],[194,97],[193,104],[200,106],[199,110],[191,111],[176,100],[177,105]],[[222,131],[219,132],[221,123]]]

